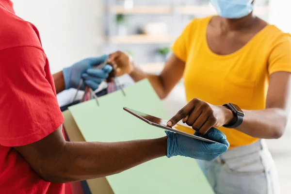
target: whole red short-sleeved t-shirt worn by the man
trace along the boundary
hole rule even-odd
[[[0,194],[64,194],[13,148],[39,141],[64,121],[37,29],[0,0]]]

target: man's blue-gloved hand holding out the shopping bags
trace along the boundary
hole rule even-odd
[[[82,84],[81,90],[85,89],[85,84],[96,90],[99,84],[108,78],[108,74],[112,71],[112,66],[105,65],[103,69],[94,69],[93,67],[104,63],[107,58],[108,55],[91,57],[64,68],[65,89],[77,88],[81,78],[83,78],[85,83]]]

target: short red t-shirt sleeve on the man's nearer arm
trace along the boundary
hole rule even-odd
[[[0,145],[34,143],[64,122],[45,65],[39,48],[0,50]]]

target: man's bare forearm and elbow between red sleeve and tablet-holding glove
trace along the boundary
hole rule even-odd
[[[66,142],[62,126],[44,139],[14,147],[40,178],[66,183],[120,173],[167,154],[167,137],[129,142]]]

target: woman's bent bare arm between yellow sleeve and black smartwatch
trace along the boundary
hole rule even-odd
[[[253,137],[280,138],[287,125],[291,90],[291,73],[275,72],[270,76],[266,109],[244,110],[242,125],[237,130]]]

